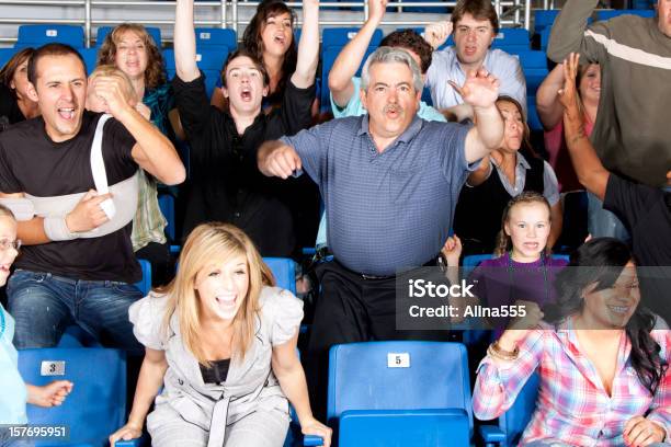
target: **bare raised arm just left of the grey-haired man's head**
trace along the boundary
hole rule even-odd
[[[345,107],[352,96],[359,94],[359,92],[354,91],[352,77],[359,70],[373,34],[385,15],[386,7],[387,0],[369,0],[368,20],[354,38],[340,51],[331,71],[329,71],[329,90],[331,91],[333,103],[339,107]]]

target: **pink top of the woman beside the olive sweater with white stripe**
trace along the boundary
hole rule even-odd
[[[594,123],[584,115],[584,131],[589,137],[592,135]],[[559,181],[559,192],[566,193],[569,191],[584,190],[584,187],[578,181],[576,170],[571,163],[571,158],[566,146],[566,138],[564,136],[564,121],[559,119],[559,123],[551,129],[544,133],[545,150],[549,156],[548,162],[557,174]]]

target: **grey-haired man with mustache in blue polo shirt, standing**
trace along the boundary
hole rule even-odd
[[[367,115],[333,119],[260,148],[263,174],[287,179],[304,169],[326,202],[334,261],[320,272],[323,297],[309,354],[372,336],[407,336],[395,328],[395,273],[435,260],[466,176],[503,137],[498,80],[479,71],[458,89],[475,110],[476,126],[417,117],[419,66],[402,49],[380,47],[362,72]]]

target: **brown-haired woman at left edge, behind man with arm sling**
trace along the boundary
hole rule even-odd
[[[27,62],[33,53],[33,48],[23,48],[0,69],[0,131],[39,115],[37,103],[27,95]]]

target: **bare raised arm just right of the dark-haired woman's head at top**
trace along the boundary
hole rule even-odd
[[[307,89],[315,83],[319,64],[319,0],[304,0],[303,30],[298,43],[296,71],[292,83],[298,89]]]

